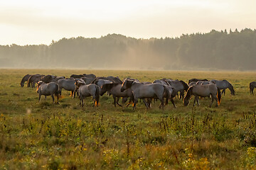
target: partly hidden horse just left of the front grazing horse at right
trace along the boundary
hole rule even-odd
[[[188,90],[188,84],[186,84],[182,80],[172,80],[172,79],[161,79],[164,81],[167,81],[170,86],[174,87],[174,91],[176,91],[176,94],[178,95],[178,91],[180,92],[180,99],[184,98],[184,91]]]

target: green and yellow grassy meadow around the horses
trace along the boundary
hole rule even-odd
[[[68,91],[60,105],[48,96],[38,103],[36,89],[19,86],[25,74],[96,74],[155,79],[227,79],[218,108],[188,107],[175,98],[159,110],[114,108],[112,96],[79,106]],[[1,69],[0,169],[256,169],[256,96],[249,83],[255,72],[159,72],[102,70]]]

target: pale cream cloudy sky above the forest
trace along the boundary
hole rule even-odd
[[[255,0],[0,1],[0,45],[50,45],[62,38],[176,38],[256,28]]]

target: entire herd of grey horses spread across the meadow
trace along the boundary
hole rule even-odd
[[[199,106],[199,97],[210,97],[212,106],[216,101],[216,107],[220,104],[221,95],[225,95],[225,89],[229,89],[231,95],[235,95],[235,90],[227,80],[208,80],[208,79],[190,79],[188,84],[182,80],[174,79],[156,79],[153,82],[139,81],[138,79],[126,78],[123,81],[119,77],[96,77],[95,74],[72,74],[70,78],[55,77],[53,75],[26,74],[21,80],[21,87],[28,81],[28,87],[35,87],[37,84],[37,93],[39,94],[38,102],[41,96],[51,96],[54,103],[54,95],[58,99],[61,97],[62,89],[70,91],[70,96],[75,95],[80,99],[80,105],[84,106],[84,99],[92,96],[97,106],[100,96],[107,93],[112,95],[114,106],[122,106],[119,104],[119,98],[122,103],[126,101],[127,106],[133,103],[133,109],[136,108],[138,100],[144,102],[146,108],[151,108],[152,101],[159,100],[161,102],[159,108],[164,108],[169,101],[173,104],[174,98],[179,96],[183,99],[184,106],[188,106],[191,96],[195,96],[193,106],[196,103]],[[250,94],[253,95],[253,89],[256,88],[256,82],[250,83]],[[220,91],[222,90],[222,91]],[[186,95],[185,95],[186,92]]]

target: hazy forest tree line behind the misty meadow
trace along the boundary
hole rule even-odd
[[[256,30],[211,30],[180,38],[124,35],[63,38],[50,45],[0,45],[0,67],[255,70]]]

